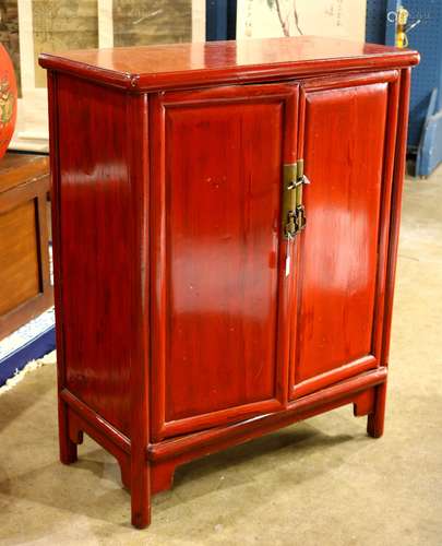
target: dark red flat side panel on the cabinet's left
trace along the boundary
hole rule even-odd
[[[129,436],[127,96],[59,74],[57,98],[65,387]]]

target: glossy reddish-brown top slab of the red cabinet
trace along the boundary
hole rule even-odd
[[[408,49],[314,36],[84,49],[39,57],[47,69],[134,91],[403,68],[418,61],[419,55]]]

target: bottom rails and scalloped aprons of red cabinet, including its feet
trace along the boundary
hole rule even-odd
[[[61,462],[71,464],[76,461],[76,447],[83,442],[83,434],[87,434],[117,459],[121,468],[121,482],[127,489],[143,486],[147,490],[146,498],[141,499],[142,506],[135,507],[135,513],[145,512],[142,522],[132,521],[134,525],[143,527],[150,521],[151,496],[170,489],[176,467],[193,459],[247,442],[347,404],[354,405],[355,417],[368,416],[369,436],[381,437],[386,376],[386,368],[381,367],[296,400],[284,411],[152,443],[145,453],[147,486],[140,483],[141,475],[131,465],[130,439],[68,390],[63,390],[60,393],[60,420],[67,427],[60,436]]]

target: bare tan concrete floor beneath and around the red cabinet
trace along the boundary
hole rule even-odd
[[[182,466],[129,524],[114,459],[58,462],[53,366],[0,396],[0,544],[442,545],[442,169],[407,180],[385,436],[344,407]]]

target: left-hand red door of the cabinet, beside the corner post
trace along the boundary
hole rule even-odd
[[[280,189],[297,98],[272,84],[151,100],[154,440],[286,403]]]

